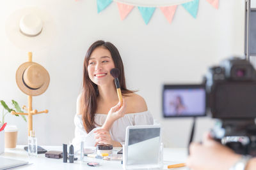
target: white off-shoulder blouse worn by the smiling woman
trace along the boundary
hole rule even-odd
[[[103,125],[106,120],[106,114],[95,114],[95,123]],[[72,140],[75,150],[80,149],[81,141],[84,141],[84,146],[95,146],[95,134],[93,133],[99,126],[95,127],[92,131],[87,133],[84,129],[82,115],[76,115],[74,118],[76,125],[75,138]],[[127,113],[124,117],[116,120],[109,133],[114,141],[118,141],[121,145],[125,142],[125,131],[129,125],[152,125],[154,124],[153,117],[149,111],[143,111],[140,113]]]

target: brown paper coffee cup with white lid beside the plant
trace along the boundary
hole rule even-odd
[[[4,129],[5,148],[16,148],[18,128],[15,125],[6,125]]]

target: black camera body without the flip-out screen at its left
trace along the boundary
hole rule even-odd
[[[205,90],[212,118],[256,117],[256,71],[248,60],[233,57],[210,67]]]

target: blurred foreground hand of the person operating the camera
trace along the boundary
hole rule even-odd
[[[193,170],[229,169],[241,157],[205,134],[203,143],[191,143],[186,165]]]

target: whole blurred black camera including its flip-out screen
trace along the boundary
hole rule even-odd
[[[256,156],[256,71],[248,60],[223,60],[209,68],[200,85],[164,85],[164,117],[206,113],[217,119],[211,131],[216,141],[236,153]]]

